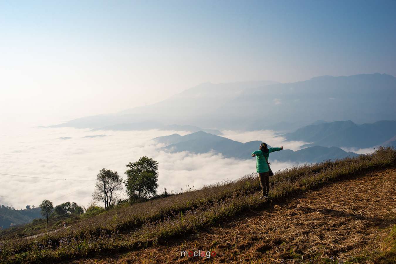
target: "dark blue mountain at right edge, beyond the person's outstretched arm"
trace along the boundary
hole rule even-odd
[[[396,135],[396,121],[382,120],[375,123],[357,125],[354,122],[336,121],[308,125],[293,133],[282,135],[289,141],[311,142],[305,146],[336,146],[369,148],[392,144],[391,138]]]

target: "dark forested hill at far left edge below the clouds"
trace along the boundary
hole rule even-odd
[[[40,218],[40,207],[32,209],[15,210],[12,207],[2,205],[0,207],[0,226],[2,229],[9,228],[11,224],[27,224],[34,218]]]

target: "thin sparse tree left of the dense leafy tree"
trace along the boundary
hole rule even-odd
[[[92,194],[94,200],[103,201],[105,210],[114,201],[116,191],[122,190],[122,178],[116,171],[101,169],[96,177],[96,189]]]

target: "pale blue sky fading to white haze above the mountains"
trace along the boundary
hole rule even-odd
[[[396,76],[395,11],[396,1],[1,2],[0,110],[54,122],[208,81]]]

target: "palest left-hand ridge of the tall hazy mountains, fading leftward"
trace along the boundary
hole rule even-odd
[[[245,89],[263,87],[275,84],[274,81],[248,81],[227,84],[212,84],[210,82],[189,88],[173,95],[164,101],[127,109],[114,114],[101,114],[70,120],[69,122],[51,127],[76,127],[101,129],[103,127],[126,127],[128,124],[158,122],[165,124],[191,124],[198,127],[216,127],[197,122],[211,116],[223,104],[236,98]],[[203,125],[197,125],[197,123]],[[118,126],[118,127],[117,127]],[[114,130],[116,130],[114,129]],[[142,130],[145,128],[143,127]],[[127,130],[127,129],[125,129]]]

